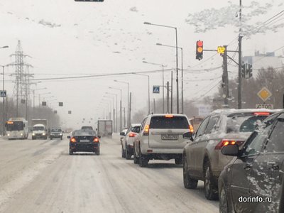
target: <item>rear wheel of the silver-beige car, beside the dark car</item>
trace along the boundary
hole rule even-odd
[[[218,199],[218,186],[214,184],[210,163],[204,164],[204,194],[207,200]]]

